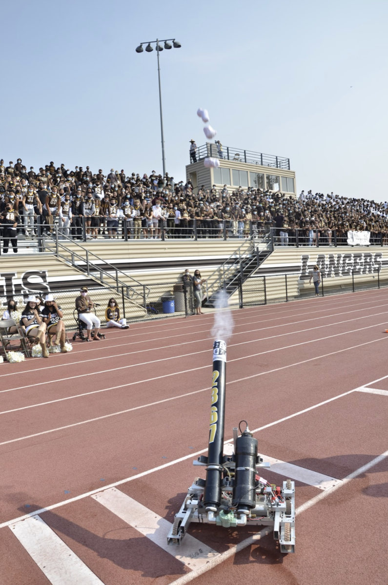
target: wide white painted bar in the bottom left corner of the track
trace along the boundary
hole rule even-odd
[[[52,585],[104,585],[40,516],[9,528]]]

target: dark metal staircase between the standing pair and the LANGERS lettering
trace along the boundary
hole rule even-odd
[[[214,307],[216,294],[223,289],[230,297],[239,287],[239,279],[244,282],[273,252],[274,245],[271,235],[257,239],[250,236],[233,252],[224,263],[217,268],[206,280],[205,307]]]

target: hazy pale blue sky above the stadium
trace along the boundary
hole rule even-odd
[[[225,146],[289,157],[297,188],[388,199],[388,3],[21,0],[2,30],[0,157],[185,177],[207,108]],[[352,87],[351,87],[352,86]]]

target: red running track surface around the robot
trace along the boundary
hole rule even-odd
[[[225,439],[241,419],[253,429],[279,421],[255,433],[260,453],[341,480],[386,452],[386,394],[355,391],[297,414],[361,386],[388,390],[386,291],[233,316]],[[280,555],[270,533],[197,576],[86,495],[122,482],[118,490],[173,521],[200,474],[193,453],[207,446],[212,325],[210,314],[136,324],[67,355],[0,366],[2,585],[50,582],[8,527],[50,506],[40,517],[105,585],[388,583],[387,459],[297,516],[295,555]],[[322,494],[296,486],[297,507]],[[257,529],[189,532],[225,552]]]

